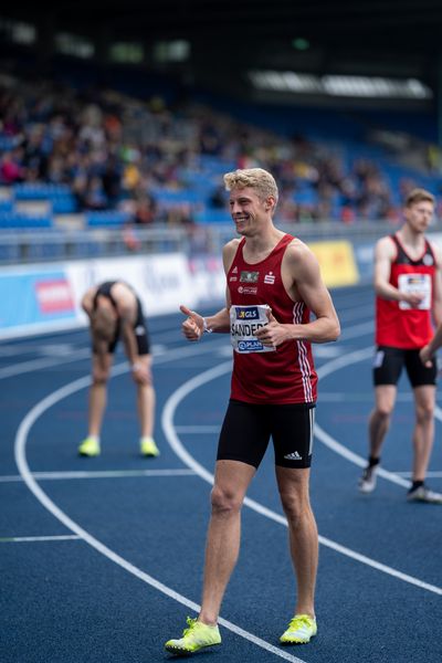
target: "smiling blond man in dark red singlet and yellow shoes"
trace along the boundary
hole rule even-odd
[[[166,643],[176,654],[221,642],[217,621],[239,554],[241,506],[271,438],[297,578],[295,614],[281,642],[308,642],[317,631],[318,538],[308,491],[317,376],[311,343],[336,340],[339,322],[314,254],[273,224],[278,196],[273,176],[251,168],[225,175],[224,182],[242,235],[223,250],[227,306],[208,318],[181,306],[189,340],[204,332],[230,333],[234,365],[218,448],[201,611],[188,620],[183,638]]]

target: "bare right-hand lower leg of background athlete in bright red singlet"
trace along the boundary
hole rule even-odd
[[[434,440],[435,387],[422,385],[414,390],[413,481],[424,481]]]

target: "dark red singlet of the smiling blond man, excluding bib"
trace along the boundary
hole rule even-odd
[[[249,264],[243,257],[243,238],[228,273],[232,305],[267,304],[278,323],[306,324],[311,312],[285,291],[281,264],[294,238],[285,234],[263,261]],[[231,398],[249,403],[314,403],[317,375],[311,344],[287,340],[272,352],[233,352]]]

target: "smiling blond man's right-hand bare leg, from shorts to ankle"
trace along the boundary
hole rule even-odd
[[[309,501],[309,467],[276,465],[281,502],[288,524],[290,549],[297,580],[294,614],[315,615],[318,534]]]

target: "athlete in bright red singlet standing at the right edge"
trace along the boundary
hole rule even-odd
[[[415,406],[413,481],[407,497],[442,504],[442,495],[424,484],[434,438],[436,366],[433,359],[425,357],[425,365],[420,358],[420,350],[433,336],[431,318],[436,324],[442,320],[441,252],[424,235],[433,213],[434,197],[414,189],[406,202],[406,223],[376,246],[376,403],[369,422],[369,459],[359,490],[371,493],[376,487],[380,451],[404,366]]]

